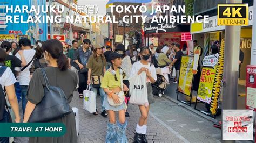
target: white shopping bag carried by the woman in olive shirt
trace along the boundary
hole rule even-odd
[[[95,92],[92,91],[91,85],[87,86],[87,89],[83,92],[84,95],[84,109],[90,113],[96,112],[96,96]]]

